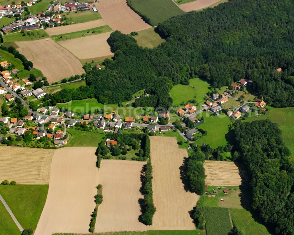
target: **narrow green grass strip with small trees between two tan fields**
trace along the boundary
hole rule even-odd
[[[95,33],[93,33],[93,31]],[[67,33],[67,34],[53,35],[51,36],[51,38],[54,41],[59,42],[59,41],[65,41],[65,40],[74,39],[74,38],[81,38],[81,37],[92,36],[96,34],[102,34],[102,33],[110,32],[110,31],[111,31],[111,28],[109,28],[108,25],[103,25],[93,29],[86,29],[86,30]],[[61,37],[61,39],[59,39],[59,37]]]

